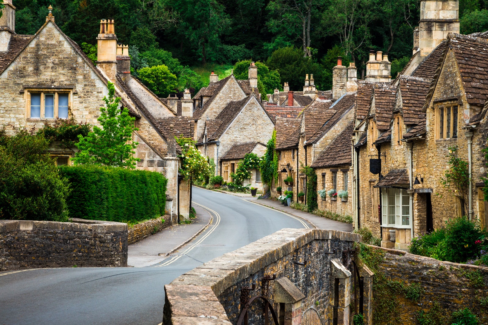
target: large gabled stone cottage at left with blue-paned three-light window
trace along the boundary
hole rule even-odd
[[[128,46],[118,45],[114,21],[100,22],[95,66],[56,25],[51,7],[35,35],[18,35],[15,7],[11,0],[4,4],[0,19],[0,123],[5,132],[14,134],[20,128],[36,131],[62,119],[100,126],[99,108],[111,81],[116,96],[122,98],[121,108],[128,109],[139,128],[133,133],[133,140],[139,142],[135,156],[141,159],[137,168],[162,172],[168,178],[166,210],[187,217],[189,189],[178,180],[173,134],[182,129],[192,131],[192,121],[178,117],[130,75]],[[156,111],[159,115],[155,116]],[[49,149],[59,165],[70,164],[75,151],[56,142]]]

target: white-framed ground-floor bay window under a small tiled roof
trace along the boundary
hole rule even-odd
[[[394,196],[391,194],[394,194]],[[407,198],[407,204],[403,204],[404,197]],[[393,216],[393,214],[389,213],[390,208],[394,208],[394,223],[389,222],[389,217]],[[407,208],[407,214],[403,213],[403,208]],[[407,190],[393,188],[381,189],[381,218],[382,227],[410,229],[410,197]],[[407,225],[403,225],[404,218],[407,220]]]

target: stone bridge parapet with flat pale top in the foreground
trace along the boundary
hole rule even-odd
[[[334,317],[337,324],[352,324],[352,278],[342,263],[360,240],[358,234],[335,230],[277,231],[166,285],[163,324],[210,324],[209,319],[211,324],[237,324],[245,287],[248,298],[266,297],[284,324],[301,324],[308,317],[322,324],[332,324]],[[362,276],[368,286],[371,277]],[[368,318],[370,293],[366,290]],[[249,306],[249,324],[264,324],[262,300]]]

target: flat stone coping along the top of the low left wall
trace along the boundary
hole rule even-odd
[[[121,222],[85,220],[73,218],[72,222],[38,220],[0,220],[0,233],[51,229],[63,231],[127,232],[127,224]]]

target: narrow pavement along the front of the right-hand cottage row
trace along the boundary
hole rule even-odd
[[[261,199],[258,200],[257,197],[248,197],[245,198],[248,201],[261,204],[266,207],[270,207],[276,210],[280,210],[296,217],[305,219],[309,221],[312,225],[314,225],[318,229],[333,229],[333,230],[341,230],[341,231],[352,231],[352,224],[346,224],[345,222],[330,220],[325,217],[321,217],[316,214],[308,213],[301,210],[292,209],[290,207],[285,207],[279,201],[271,200],[271,199]]]

